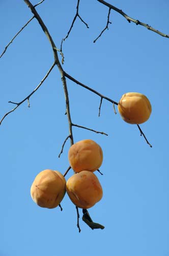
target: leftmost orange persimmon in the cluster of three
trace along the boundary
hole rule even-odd
[[[57,170],[46,169],[40,172],[32,186],[31,197],[40,207],[57,207],[66,193],[65,177]]]

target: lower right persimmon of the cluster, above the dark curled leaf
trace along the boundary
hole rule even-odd
[[[83,209],[94,206],[103,196],[98,178],[88,170],[71,176],[66,182],[66,191],[73,204]]]

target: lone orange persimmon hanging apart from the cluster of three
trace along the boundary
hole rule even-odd
[[[140,124],[149,119],[152,108],[144,94],[126,93],[119,101],[118,110],[125,122]]]

